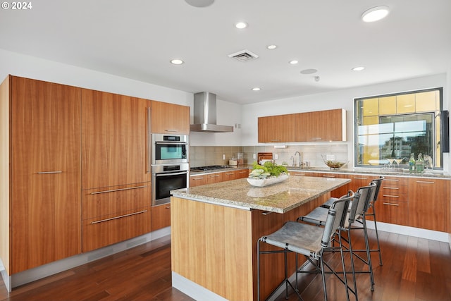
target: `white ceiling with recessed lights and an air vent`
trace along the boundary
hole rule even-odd
[[[0,49],[238,104],[446,73],[450,0],[30,0],[1,9]],[[10,2],[11,3],[11,2]],[[387,18],[363,23],[373,6]],[[237,30],[238,20],[249,27]],[[268,50],[268,44],[278,48]],[[248,49],[258,59],[228,54]],[[183,65],[169,61],[180,58]],[[297,59],[292,66],[288,61]],[[365,66],[360,72],[355,66]],[[1,66],[0,66],[1,68]],[[317,73],[303,75],[301,70]],[[319,76],[319,82],[314,76]],[[254,92],[252,87],[261,87]]]

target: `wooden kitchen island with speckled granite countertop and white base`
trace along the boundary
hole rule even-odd
[[[196,300],[256,300],[257,240],[307,214],[326,202],[330,191],[349,182],[290,177],[256,188],[244,178],[173,190],[173,287]],[[293,273],[294,256],[289,260]],[[282,279],[283,254],[262,257],[261,295],[268,295]]]

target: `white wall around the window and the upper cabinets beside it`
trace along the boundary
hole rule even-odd
[[[386,82],[379,85],[278,99],[259,104],[247,104],[242,106],[242,145],[258,145],[257,118],[260,116],[342,108],[347,111],[347,154],[351,163],[354,162],[354,98],[421,90],[432,87],[443,87],[443,109],[449,110],[451,108],[451,99],[448,90],[451,87],[451,82],[445,73],[424,78],[413,78],[397,82]],[[448,154],[444,156],[443,163],[445,171],[450,170],[448,156]]]

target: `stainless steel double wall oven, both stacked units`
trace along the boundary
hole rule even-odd
[[[152,134],[152,206],[171,202],[171,190],[187,188],[189,136]]]

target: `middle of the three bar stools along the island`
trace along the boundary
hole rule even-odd
[[[347,212],[347,219],[345,219],[345,224],[342,227],[341,233],[347,233],[347,238],[343,238],[342,235],[338,237],[338,240],[340,242],[340,245],[342,245],[341,241],[345,240],[347,242],[347,249],[350,252],[351,257],[351,273],[352,273],[352,281],[354,284],[354,290],[351,290],[352,293],[354,293],[356,300],[358,300],[357,296],[357,282],[355,278],[355,274],[361,274],[361,273],[368,273],[370,275],[370,288],[371,290],[374,290],[374,276],[373,276],[373,266],[371,264],[371,254],[369,252],[369,242],[368,242],[368,235],[366,231],[366,222],[363,219],[363,226],[362,227],[355,227],[352,226],[352,223],[359,219],[359,217],[363,216],[366,212],[366,210],[369,207],[369,203],[374,197],[374,194],[376,193],[376,182],[372,181],[370,185],[363,186],[359,188],[355,192],[355,197],[350,203],[350,207],[348,208]],[[311,211],[306,216],[299,216],[297,219],[298,221],[304,221],[306,223],[311,223],[316,226],[323,226],[325,224],[326,218],[327,218],[327,212],[328,209],[324,207],[316,207],[313,211]],[[366,259],[362,258],[357,252],[361,250],[353,250],[352,249],[352,240],[351,240],[351,231],[361,229],[364,231],[364,240],[365,240],[365,251],[366,251]],[[354,268],[354,257],[360,259],[364,264],[368,266],[368,271],[356,271]],[[299,271],[302,273],[302,271]]]

